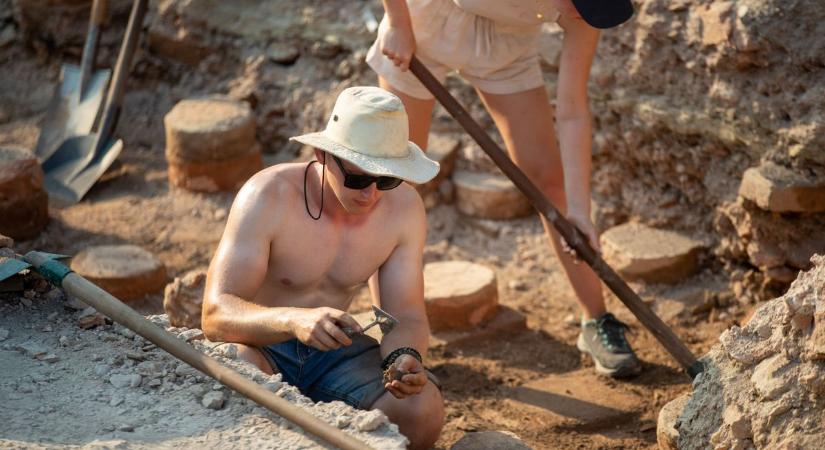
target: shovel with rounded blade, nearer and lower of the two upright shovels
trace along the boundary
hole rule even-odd
[[[54,206],[79,202],[123,149],[123,141],[112,140],[111,134],[120,115],[126,79],[146,15],[147,1],[135,0],[132,5],[97,132],[67,139],[43,162],[43,172],[46,174],[43,184]]]

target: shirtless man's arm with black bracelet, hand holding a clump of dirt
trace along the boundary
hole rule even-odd
[[[421,198],[412,190],[406,193],[405,221],[402,236],[387,261],[378,271],[381,286],[381,308],[398,319],[399,325],[384,336],[381,355],[393,350],[412,347],[422,356],[427,354],[430,327],[424,308],[423,252],[427,238],[427,219]],[[400,222],[399,222],[400,223]],[[405,375],[403,383],[393,382],[387,388],[396,397],[403,398],[421,392],[427,382],[423,366],[410,355],[397,360]]]

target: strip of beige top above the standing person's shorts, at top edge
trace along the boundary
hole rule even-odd
[[[453,3],[464,11],[504,25],[540,25],[559,18],[559,11],[547,0],[453,0]]]

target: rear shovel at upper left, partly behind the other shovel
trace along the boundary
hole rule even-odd
[[[55,86],[34,150],[40,161],[49,159],[67,138],[89,133],[94,127],[110,75],[109,69],[92,73],[106,7],[107,0],[94,0],[92,3],[80,67],[63,64],[60,69],[61,81]]]

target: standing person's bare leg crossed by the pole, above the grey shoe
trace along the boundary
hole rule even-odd
[[[567,213],[564,173],[556,144],[553,109],[543,87],[515,94],[479,95],[501,133],[510,157],[561,214]],[[575,264],[562,251],[559,236],[542,216],[544,229],[567,273],[584,315],[592,319],[605,312],[599,278],[587,264]]]

